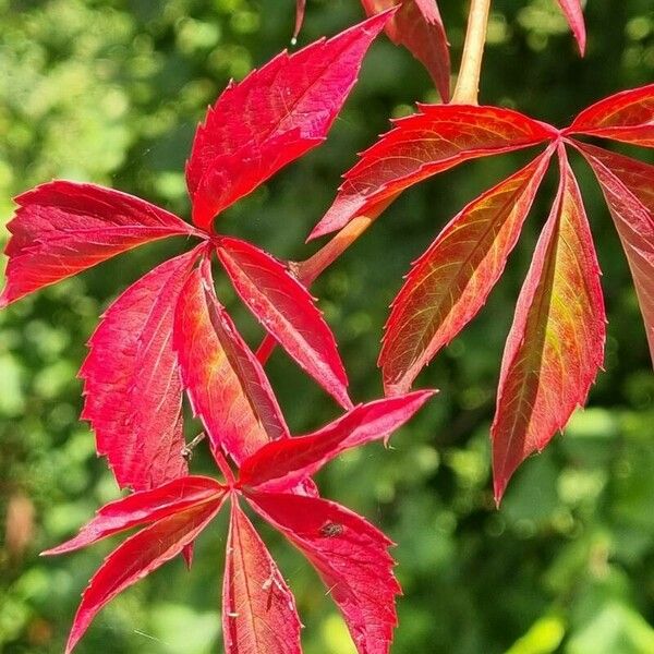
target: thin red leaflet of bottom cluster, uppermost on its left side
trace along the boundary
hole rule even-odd
[[[215,502],[226,491],[225,486],[209,477],[185,476],[152,491],[121,497],[97,511],[74,538],[43,552],[41,556],[73,552],[128,529],[161,520],[207,501]]]

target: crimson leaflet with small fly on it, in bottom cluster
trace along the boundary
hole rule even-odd
[[[316,568],[360,654],[386,654],[397,625],[391,542],[348,509],[316,497],[253,494],[254,508]]]

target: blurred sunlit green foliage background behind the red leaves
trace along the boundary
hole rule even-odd
[[[361,17],[358,0],[307,4],[301,44]],[[457,62],[465,3],[440,4]],[[0,215],[9,219],[10,198],[21,191],[71,178],[186,216],[182,170],[197,121],[229,77],[243,77],[288,46],[293,8],[293,0],[0,0]],[[651,0],[589,0],[584,60],[554,0],[496,0],[493,8],[484,102],[562,124],[595,99],[652,81]],[[380,38],[328,142],[220,225],[280,257],[306,257],[304,235],[355,152],[387,129],[389,117],[435,99],[420,65]],[[356,400],[380,393],[378,340],[409,263],[465,202],[524,159],[468,164],[412,190],[316,283]],[[494,389],[512,306],[555,191],[553,172],[484,312],[420,378],[440,395],[392,449],[349,453],[319,480],[326,496],[398,543],[405,596],[393,652],[654,653],[654,377],[607,210],[584,165],[573,165],[609,316],[606,371],[590,407],[522,467],[496,511],[488,463]],[[140,249],[0,314],[1,652],[62,651],[80,592],[114,544],[56,560],[37,556],[118,496],[92,434],[77,422],[84,342],[123,288],[183,247]],[[256,343],[261,332],[223,282],[219,292]],[[269,370],[295,432],[335,415],[279,352]],[[194,469],[210,473],[204,452]],[[25,547],[5,536],[22,523]],[[221,521],[205,533],[191,573],[172,561],[116,600],[78,651],[221,651],[225,533]],[[296,593],[306,652],[351,652],[317,577],[270,530],[264,533]]]

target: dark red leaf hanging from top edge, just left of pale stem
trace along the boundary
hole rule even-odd
[[[388,38],[404,46],[429,71],[444,102],[450,98],[450,58],[436,0],[362,0],[368,15],[401,4],[386,24]]]

